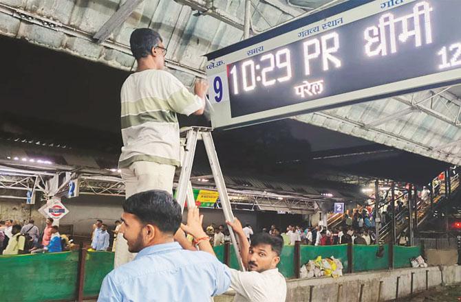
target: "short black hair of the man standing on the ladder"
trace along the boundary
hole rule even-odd
[[[162,37],[150,28],[138,28],[131,33],[129,38],[131,53],[136,60],[149,56],[152,47],[156,47],[159,42],[162,42]]]

